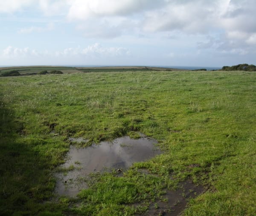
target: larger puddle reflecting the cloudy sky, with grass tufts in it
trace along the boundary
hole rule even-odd
[[[71,141],[71,140],[70,140]],[[134,162],[142,162],[160,154],[154,146],[157,140],[148,137],[131,139],[124,136],[113,142],[100,142],[87,148],[71,146],[68,160],[61,168],[73,167],[72,171],[58,173],[55,191],[59,195],[75,196],[82,188],[87,188],[84,179],[89,173],[124,169]]]

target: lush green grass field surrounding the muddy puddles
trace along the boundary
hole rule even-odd
[[[254,72],[241,71],[0,77],[0,212],[131,215],[191,179],[209,189],[185,215],[255,215],[255,83]],[[77,198],[53,199],[67,137],[100,142],[134,132],[158,139],[165,153],[123,177],[93,176]]]

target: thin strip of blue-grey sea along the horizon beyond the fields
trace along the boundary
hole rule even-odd
[[[17,66],[38,66],[38,65],[0,65],[0,67],[17,67]],[[44,66],[44,65],[41,65]],[[196,70],[205,68],[207,71],[218,70],[221,67],[204,67],[204,66],[169,66],[169,65],[45,65],[45,66],[64,66],[64,67],[131,67],[131,66],[147,66],[147,67],[160,67],[160,68],[177,68],[186,70]]]

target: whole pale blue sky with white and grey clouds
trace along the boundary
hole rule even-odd
[[[256,64],[256,0],[0,0],[0,65]]]

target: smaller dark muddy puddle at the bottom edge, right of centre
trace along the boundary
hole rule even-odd
[[[180,184],[181,189],[167,190],[163,199],[166,202],[158,201],[152,203],[147,215],[178,216],[185,210],[189,198],[195,198],[204,192],[202,185],[195,185],[189,181]]]

